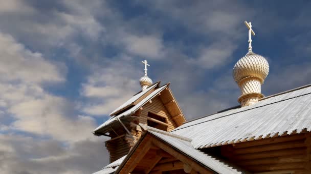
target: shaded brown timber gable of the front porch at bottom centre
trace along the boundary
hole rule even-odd
[[[116,173],[213,173],[148,133],[135,148]]]

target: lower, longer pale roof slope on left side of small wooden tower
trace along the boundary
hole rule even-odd
[[[161,91],[163,91],[165,88],[167,87],[167,84],[161,86],[160,88],[158,88],[157,90],[154,90],[150,95],[148,95],[147,97],[145,97],[142,101],[140,101],[137,105],[135,105],[134,107],[126,110],[125,112],[120,113],[119,115],[115,115],[114,117],[110,118],[109,120],[107,120],[106,122],[104,122],[102,125],[100,125],[98,128],[96,128],[94,130],[94,132],[96,133],[96,131],[109,126],[111,124],[113,124],[113,122],[117,122],[117,118],[121,119],[124,116],[127,115],[131,115],[134,114],[134,112],[136,112],[140,107],[142,107],[144,104],[146,104],[149,100],[151,100],[153,97],[156,97],[159,93],[161,93]]]

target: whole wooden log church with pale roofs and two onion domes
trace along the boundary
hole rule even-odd
[[[239,106],[186,121],[168,84],[140,79],[142,91],[94,130],[105,142],[106,173],[311,173],[311,85],[264,97],[266,59],[249,50],[234,66]],[[94,174],[95,174],[94,173]]]

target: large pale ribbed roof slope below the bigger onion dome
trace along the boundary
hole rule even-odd
[[[196,149],[311,130],[311,87],[197,119],[171,131]]]

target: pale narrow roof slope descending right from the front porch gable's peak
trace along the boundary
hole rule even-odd
[[[173,138],[172,136],[167,136],[152,130],[148,130],[148,132],[169,143],[172,147],[180,150],[187,156],[190,156],[194,160],[202,163],[217,173],[248,173],[247,171],[243,171],[229,163],[194,149],[189,141]]]

